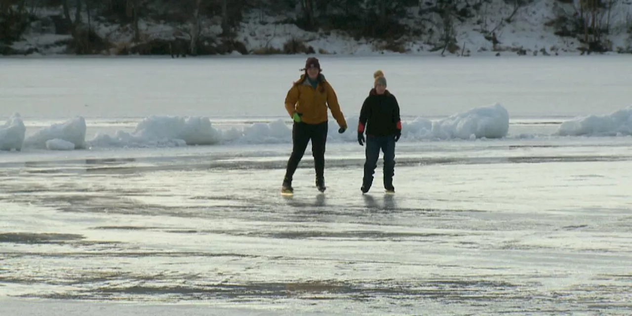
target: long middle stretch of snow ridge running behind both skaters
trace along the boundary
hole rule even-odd
[[[344,133],[334,119],[329,121],[327,139],[332,142],[355,142],[358,117],[346,118]],[[500,104],[478,107],[449,118],[430,121],[418,118],[403,124],[403,139],[475,139],[502,138],[509,130],[509,114]],[[217,130],[207,117],[150,116],[138,123],[132,133],[97,134],[88,141],[91,147],[178,147],[217,143],[267,144],[291,143],[292,130],[285,121],[254,123],[243,128]]]

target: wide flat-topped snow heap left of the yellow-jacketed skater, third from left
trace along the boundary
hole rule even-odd
[[[221,133],[207,117],[150,116],[132,133],[118,131],[114,137],[97,134],[88,143],[93,147],[174,147],[214,145],[220,140]]]

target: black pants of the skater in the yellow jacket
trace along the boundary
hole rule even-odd
[[[327,143],[327,122],[320,124],[294,123],[292,127],[292,154],[289,156],[284,181],[292,181],[292,177],[301,162],[307,143],[312,141],[312,155],[316,178],[323,179],[325,172],[325,143]]]

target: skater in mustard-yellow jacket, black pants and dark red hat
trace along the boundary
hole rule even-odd
[[[285,177],[283,178],[282,193],[293,193],[292,178],[298,163],[305,154],[307,143],[312,141],[312,155],[316,171],[316,186],[319,191],[325,191],[325,143],[327,142],[327,108],[339,125],[338,133],[344,133],[347,123],[343,112],[340,111],[334,88],[325,80],[320,68],[320,62],[310,57],[305,62],[305,71],[301,78],[293,83],[285,98],[285,108],[293,119],[292,126],[292,154],[288,160]]]

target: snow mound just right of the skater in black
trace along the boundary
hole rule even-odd
[[[417,118],[402,126],[402,136],[414,139],[503,138],[507,131],[509,113],[501,104],[476,107],[437,121]]]

